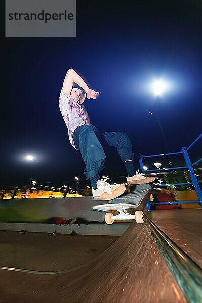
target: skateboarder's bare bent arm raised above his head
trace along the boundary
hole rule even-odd
[[[82,77],[80,77],[72,68],[70,68],[66,73],[62,86],[66,96],[70,94],[73,82],[77,83],[78,85],[80,85],[80,87],[84,89],[84,91],[86,92],[87,99],[96,99],[97,95],[99,94],[99,92],[90,89],[88,85],[84,82]]]

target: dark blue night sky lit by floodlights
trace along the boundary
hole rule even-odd
[[[126,132],[137,154],[187,147],[202,126],[201,20],[200,1],[78,0],[76,38],[4,38],[2,32],[0,184],[85,178],[85,165],[69,143],[58,107],[69,68],[102,91],[85,102],[100,132]],[[161,77],[171,87],[156,99],[149,83]],[[155,113],[148,113],[155,106],[169,150]],[[114,148],[105,150],[103,174],[125,175]],[[35,161],[23,160],[27,154]],[[201,157],[197,146],[195,157]]]

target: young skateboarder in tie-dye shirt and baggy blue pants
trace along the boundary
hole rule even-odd
[[[89,115],[84,107],[85,98],[96,99],[99,92],[90,89],[85,81],[72,68],[65,76],[59,97],[59,108],[68,128],[71,145],[80,151],[86,164],[84,173],[91,181],[94,199],[111,200],[126,190],[125,185],[110,184],[107,177],[100,177],[106,158],[99,141],[101,136],[109,146],[117,148],[118,154],[127,170],[127,183],[140,184],[154,181],[154,177],[145,177],[135,172],[133,167],[134,154],[129,137],[123,132],[99,133],[90,123]]]

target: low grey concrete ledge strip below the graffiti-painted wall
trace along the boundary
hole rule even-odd
[[[6,223],[0,222],[0,230],[10,230],[10,231],[20,231],[26,230],[27,232],[45,232],[60,234],[70,234],[72,230],[77,231],[78,235],[108,235],[108,236],[121,236],[130,224],[90,224],[90,225],[80,225],[72,224],[57,226],[54,224],[41,224],[41,223]]]

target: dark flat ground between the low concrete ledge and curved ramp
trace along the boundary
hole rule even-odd
[[[0,266],[58,271],[82,265],[111,246],[116,236],[0,231]]]

